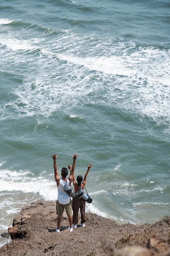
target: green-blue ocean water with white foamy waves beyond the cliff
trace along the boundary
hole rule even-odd
[[[93,164],[86,211],[169,215],[169,28],[169,0],[0,1],[0,234],[57,199],[53,153]]]

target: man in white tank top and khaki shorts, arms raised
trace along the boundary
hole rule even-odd
[[[66,178],[66,176],[68,175],[68,169],[65,167],[63,167],[61,171],[62,179],[60,179],[58,175],[57,163],[56,163],[57,156],[58,155],[56,154],[52,155],[53,161],[54,161],[54,177],[55,177],[55,181],[57,183],[57,189],[58,189],[58,199],[56,202],[57,228],[55,229],[55,231],[60,232],[60,223],[62,220],[64,208],[65,208],[68,216],[68,221],[70,224],[70,227],[68,229],[72,232],[73,231],[72,201],[71,201],[71,197],[64,191],[64,185],[68,182],[71,186],[71,182],[73,181],[73,177],[74,177],[75,161],[78,155],[74,154],[74,156],[73,155],[71,156],[73,158],[73,166],[71,168],[70,176],[68,177],[68,179]]]

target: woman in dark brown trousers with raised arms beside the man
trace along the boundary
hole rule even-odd
[[[75,181],[75,177],[73,177],[73,186],[74,186],[74,191],[77,193],[78,189],[80,187],[82,187],[82,189],[84,189],[85,185],[86,185],[86,180],[87,180],[87,175],[88,172],[91,168],[92,164],[89,164],[87,167],[87,171],[86,174],[84,175],[84,180],[83,177],[81,175],[77,176],[77,183]],[[70,169],[71,166],[68,166],[68,168]],[[80,213],[81,213],[81,223],[79,225],[79,227],[84,227],[85,224],[84,222],[86,221],[86,215],[85,215],[85,207],[86,207],[86,201],[79,197],[78,199],[74,199],[73,198],[73,204],[72,204],[72,208],[73,208],[73,228],[77,227],[77,223],[78,223],[78,212],[80,209]]]

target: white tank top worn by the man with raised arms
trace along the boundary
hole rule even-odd
[[[69,184],[69,180],[66,181]],[[58,202],[60,204],[68,204],[70,202],[71,197],[64,191],[64,185],[66,182],[62,179],[60,179],[58,188]]]

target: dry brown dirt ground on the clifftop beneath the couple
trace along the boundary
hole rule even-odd
[[[80,219],[80,218],[79,218]],[[148,225],[118,225],[113,220],[93,213],[86,213],[86,226],[70,232],[68,218],[63,217],[60,233],[55,232],[56,218],[33,214],[24,225],[20,225],[22,239],[0,247],[1,256],[136,256],[119,253],[125,247],[149,248],[148,254],[170,256],[170,217]],[[150,238],[154,243],[150,246]],[[153,240],[152,240],[153,241]],[[159,246],[158,246],[159,245]]]

